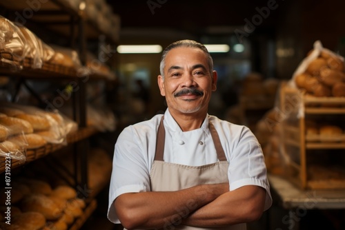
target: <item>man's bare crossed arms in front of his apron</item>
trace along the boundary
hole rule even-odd
[[[186,224],[224,227],[259,219],[266,190],[246,185],[229,191],[229,185],[197,185],[179,191],[146,191],[121,194],[115,210],[126,229],[159,229]]]

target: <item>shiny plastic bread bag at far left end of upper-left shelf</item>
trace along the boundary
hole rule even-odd
[[[0,61],[22,68],[28,53],[26,38],[10,20],[0,16]]]

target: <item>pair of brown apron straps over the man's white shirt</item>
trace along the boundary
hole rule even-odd
[[[163,120],[164,120],[164,116],[161,117],[161,122],[159,123],[158,131],[157,131],[157,140],[156,140],[156,152],[155,152],[155,160],[161,160],[161,161],[164,161],[163,160],[164,144],[166,141],[166,130],[164,129]],[[219,139],[217,130],[215,129],[215,126],[209,122],[208,128],[210,129],[213,143],[215,144],[218,160],[226,161],[224,149],[223,147],[221,147],[220,139]]]

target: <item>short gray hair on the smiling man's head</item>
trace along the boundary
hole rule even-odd
[[[198,43],[197,41],[186,39],[186,40],[175,41],[174,43],[171,43],[161,54],[161,63],[159,65],[159,70],[161,71],[161,76],[163,77],[163,79],[164,79],[164,67],[166,65],[166,55],[168,54],[170,50],[174,48],[179,48],[179,47],[199,48],[200,50],[204,51],[208,59],[207,61],[208,61],[208,67],[210,68],[210,75],[212,76],[213,59],[210,53],[208,52],[208,50],[206,49],[205,45]]]

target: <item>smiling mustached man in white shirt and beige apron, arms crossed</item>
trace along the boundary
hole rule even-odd
[[[257,139],[208,114],[217,72],[204,45],[170,44],[160,71],[168,109],[119,135],[109,220],[126,229],[246,229],[272,204]]]

